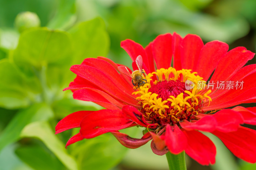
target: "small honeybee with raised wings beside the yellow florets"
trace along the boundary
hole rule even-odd
[[[132,72],[132,74],[128,71],[128,69],[125,66],[118,66],[118,70],[120,72],[124,73],[125,75],[129,76],[130,78],[132,78],[132,85],[134,85],[135,87],[137,85],[137,88],[139,88],[140,86],[143,86],[144,84],[147,83],[147,79],[145,79],[146,78],[145,70],[142,69],[141,55],[139,55],[136,58],[135,62],[137,64],[139,70],[134,70]],[[142,73],[143,73],[143,75],[142,75]]]

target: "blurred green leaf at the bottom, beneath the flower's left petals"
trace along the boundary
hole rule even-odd
[[[74,129],[74,134],[78,133],[78,130]],[[121,131],[132,134],[133,137],[138,130],[140,131],[139,128],[133,127]],[[71,150],[71,154],[76,157],[80,170],[108,170],[123,159],[128,148],[120,144],[111,133],[107,133],[76,142],[68,146],[68,150]]]

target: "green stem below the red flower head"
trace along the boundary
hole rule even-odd
[[[170,170],[187,170],[184,151],[178,155],[172,154],[171,152],[167,152],[165,155]]]

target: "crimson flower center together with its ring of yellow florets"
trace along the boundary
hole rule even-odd
[[[211,90],[201,94],[205,81],[196,72],[191,70],[160,69],[146,76],[147,82],[140,86],[140,90],[133,94],[140,94],[140,112],[153,123],[160,126],[174,125],[179,121],[196,119],[198,113],[204,113],[201,107]],[[152,83],[151,77],[156,74],[158,80]],[[185,81],[194,84],[193,88],[186,90]],[[150,83],[151,81],[151,83]],[[200,85],[203,84],[203,85]],[[200,88],[199,88],[200,87]]]

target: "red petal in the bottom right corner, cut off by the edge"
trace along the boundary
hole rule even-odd
[[[250,163],[256,162],[256,131],[240,126],[235,132],[214,131],[227,148],[238,158]]]

